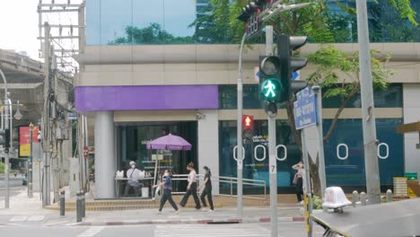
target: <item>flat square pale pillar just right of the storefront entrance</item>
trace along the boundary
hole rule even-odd
[[[213,176],[219,176],[219,113],[217,110],[199,110],[198,118],[198,171],[208,166]],[[219,194],[219,183],[212,181],[213,194]]]

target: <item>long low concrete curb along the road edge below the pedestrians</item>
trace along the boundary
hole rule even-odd
[[[278,222],[303,222],[301,216],[278,217]],[[142,220],[142,221],[115,221],[115,222],[83,222],[66,224],[67,226],[109,226],[109,225],[141,225],[141,224],[250,224],[250,223],[269,223],[270,217],[245,217],[245,218],[214,218],[199,220]]]

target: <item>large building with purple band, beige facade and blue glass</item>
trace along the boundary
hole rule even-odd
[[[346,37],[336,39],[334,46],[350,55],[358,50],[357,43],[354,43],[354,19],[340,12],[335,2],[328,2],[331,13],[349,17],[349,24],[348,29],[342,29]],[[349,1],[338,2],[352,5]],[[144,4],[149,7],[144,8]],[[140,131],[143,129],[141,127],[163,126],[166,123],[168,127],[182,130],[188,123],[193,127],[191,130],[194,130],[197,123],[196,158],[199,171],[203,165],[207,165],[215,176],[235,176],[233,150],[236,145],[239,46],[228,33],[220,34],[222,37],[206,35],[197,25],[189,26],[191,22],[200,20],[200,17],[209,16],[206,5],[207,0],[156,0],[153,3],[145,0],[128,0],[124,3],[117,0],[88,1],[87,45],[84,53],[77,57],[84,70],[74,82],[76,109],[100,114],[102,112],[96,111],[111,111],[114,127],[121,129],[118,137],[121,136],[127,144],[130,143],[128,137],[131,137],[127,136],[129,129]],[[416,1],[413,1],[413,6],[420,9]],[[182,8],[182,14],[173,11],[176,7]],[[381,27],[381,22],[389,22],[387,17],[396,15],[383,4],[370,1],[371,16],[378,7],[381,7],[383,13],[378,19],[370,18],[371,31]],[[150,8],[156,11],[150,13]],[[206,28],[212,24],[204,22],[202,26]],[[147,32],[153,33],[150,35]],[[383,185],[391,185],[391,177],[403,175],[404,171],[420,172],[415,160],[418,156],[414,146],[415,136],[395,134],[395,127],[403,120],[415,121],[419,117],[414,101],[420,90],[420,67],[417,64],[420,58],[420,31],[415,29],[408,32],[409,35],[404,36],[385,31],[371,35],[374,42],[371,48],[383,54],[389,53],[391,60],[385,66],[395,72],[389,78],[388,90],[374,92],[378,138],[389,145],[389,150],[385,149],[385,145],[380,147],[380,154],[388,154],[387,159],[380,160]],[[307,56],[319,47],[319,44],[307,44],[301,54]],[[267,180],[268,177],[268,159],[262,158],[264,151],[267,152],[267,116],[261,110],[255,86],[257,82],[254,79],[258,56],[264,54],[265,45],[254,44],[246,48],[243,56],[244,114],[253,115],[256,126],[256,137],[245,145],[244,177],[258,180]],[[311,75],[314,70],[315,66],[306,66],[301,72],[301,78]],[[324,134],[337,112],[338,104],[337,98],[323,100]],[[325,144],[329,184],[363,186],[360,107],[360,94],[356,94],[346,105],[335,132]],[[276,123],[277,144],[287,149],[287,159],[279,159],[277,162],[278,183],[279,187],[292,188],[291,166],[300,161],[301,154],[290,135],[284,107],[279,109]],[[95,130],[100,130],[110,125],[96,125],[95,122],[95,126]],[[155,133],[153,129],[148,131]],[[183,132],[192,137],[189,130]],[[317,132],[312,127],[307,134],[309,151],[315,157],[318,150]],[[348,146],[348,158],[338,159],[337,148],[338,156],[343,155],[344,145]],[[98,145],[96,149],[98,151]],[[118,156],[122,156],[118,162],[127,162],[126,154],[118,152]],[[278,150],[277,156],[284,157],[284,151]],[[188,156],[188,159],[191,157]],[[218,188],[214,191],[219,192]],[[220,193],[226,188],[221,184]]]

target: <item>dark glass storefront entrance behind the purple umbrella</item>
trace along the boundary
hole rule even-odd
[[[161,171],[169,168],[175,174],[186,174],[188,162],[194,162],[197,167],[197,121],[118,123],[116,126],[118,171],[127,171],[129,162],[134,161],[140,170],[153,174],[152,155],[156,153],[162,154],[162,160],[159,162]],[[170,133],[184,137],[192,145],[191,151],[146,149],[148,141]],[[185,189],[184,186],[183,183],[174,183],[175,189]]]

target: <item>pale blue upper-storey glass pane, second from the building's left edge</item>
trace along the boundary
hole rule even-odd
[[[131,44],[133,0],[101,0],[101,44]]]

